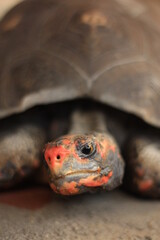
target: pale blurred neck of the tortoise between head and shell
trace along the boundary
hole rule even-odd
[[[107,132],[106,117],[101,111],[76,110],[71,116],[70,134]]]

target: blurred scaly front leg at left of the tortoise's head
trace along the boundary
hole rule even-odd
[[[32,121],[11,119],[0,128],[0,188],[26,179],[41,164],[45,131]]]

